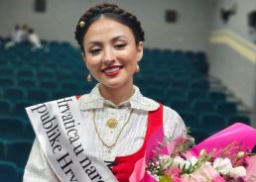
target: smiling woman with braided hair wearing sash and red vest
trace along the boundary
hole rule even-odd
[[[75,40],[89,77],[99,83],[82,96],[45,103],[49,117],[39,106],[27,108],[37,138],[24,181],[129,181],[149,138],[156,131],[163,138],[186,135],[185,124],[133,84],[144,42],[134,15],[99,4],[81,16]],[[60,135],[50,138],[44,126]]]

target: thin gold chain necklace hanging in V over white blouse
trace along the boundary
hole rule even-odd
[[[121,131],[119,132],[119,134],[118,134],[117,137],[115,138],[114,142],[113,142],[112,144],[108,144],[108,143],[106,143],[106,142],[102,139],[102,137],[100,137],[100,135],[99,135],[98,128],[97,128],[96,122],[95,122],[95,109],[93,109],[93,118],[92,118],[92,121],[93,121],[93,124],[94,124],[94,128],[95,128],[96,134],[97,134],[98,138],[100,139],[100,141],[102,142],[102,144],[103,144],[104,146],[106,146],[106,147],[109,149],[109,150],[108,150],[109,153],[111,153],[112,148],[116,145],[116,143],[117,143],[119,137],[121,136],[121,134],[122,134],[122,132],[123,132],[123,130],[124,130],[124,128],[125,128],[125,126],[129,123],[130,118],[131,118],[131,115],[132,115],[132,112],[133,112],[133,109],[131,110],[127,121],[124,123],[123,127],[121,128]]]

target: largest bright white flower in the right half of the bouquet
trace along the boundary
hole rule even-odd
[[[213,162],[213,167],[223,175],[226,175],[232,169],[232,164],[229,158],[216,158]]]

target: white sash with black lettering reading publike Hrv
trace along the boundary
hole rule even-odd
[[[84,134],[84,121],[75,96],[26,108],[44,153],[63,182],[117,182],[96,156],[93,142]]]

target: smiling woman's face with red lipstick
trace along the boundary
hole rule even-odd
[[[93,77],[108,88],[133,84],[143,43],[135,44],[129,27],[106,17],[92,23],[83,38],[84,62]]]

